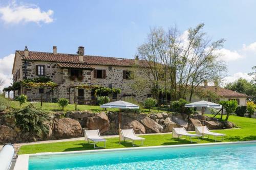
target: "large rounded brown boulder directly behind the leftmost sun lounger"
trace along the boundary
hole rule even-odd
[[[86,126],[89,130],[99,129],[100,133],[105,133],[110,130],[110,120],[104,112],[101,112],[87,118]]]

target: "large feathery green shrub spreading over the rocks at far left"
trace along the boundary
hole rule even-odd
[[[49,115],[36,109],[32,104],[5,116],[14,116],[16,126],[23,132],[34,132],[37,135],[49,132],[49,126],[47,125],[50,119]]]

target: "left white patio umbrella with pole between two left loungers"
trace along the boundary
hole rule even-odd
[[[139,106],[124,102],[124,101],[116,101],[110,102],[103,105],[100,105],[100,108],[119,108],[119,144],[121,142],[121,109],[139,109]]]

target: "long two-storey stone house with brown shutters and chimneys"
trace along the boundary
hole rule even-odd
[[[134,96],[137,101],[143,101],[151,96],[150,88],[143,90],[132,89],[133,76],[142,76],[141,69],[134,67],[135,64],[142,65],[143,61],[138,59],[124,59],[113,57],[84,55],[84,47],[79,46],[77,54],[57,53],[57,47],[53,46],[52,53],[32,52],[25,47],[24,51],[16,51],[13,63],[13,82],[37,77],[48,77],[58,84],[58,91],[53,94],[50,88],[26,88],[19,89],[15,93],[25,93],[29,101],[40,99],[41,94],[48,99],[56,101],[59,98],[71,96],[70,101],[74,103],[74,88],[77,85],[99,85],[102,87],[120,88],[118,96],[110,96],[111,99],[122,99],[126,96]],[[95,95],[92,89],[77,89],[76,95],[84,100],[93,100]],[[57,94],[58,93],[58,94]]]

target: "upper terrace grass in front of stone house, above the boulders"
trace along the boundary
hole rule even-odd
[[[20,109],[22,107],[25,107],[29,104],[29,102],[27,102],[26,104],[22,105],[21,107],[19,107],[19,102],[17,101],[10,101],[10,107],[14,108],[14,109]],[[33,105],[36,108],[40,108],[41,103],[33,103]],[[57,103],[42,103],[42,110],[48,111],[48,112],[56,112],[56,111],[61,111],[61,107],[57,104]],[[75,110],[75,105],[74,104],[70,104],[68,106],[65,107],[64,111],[74,111]],[[77,110],[90,110],[93,113],[97,113],[97,112],[102,112],[104,111],[103,108],[100,108],[99,106],[90,106],[90,105],[77,105]],[[118,111],[118,109],[107,109],[108,111]],[[148,109],[140,109],[141,112],[143,113],[149,113]],[[157,112],[157,110],[155,109],[151,109],[151,112]]]

